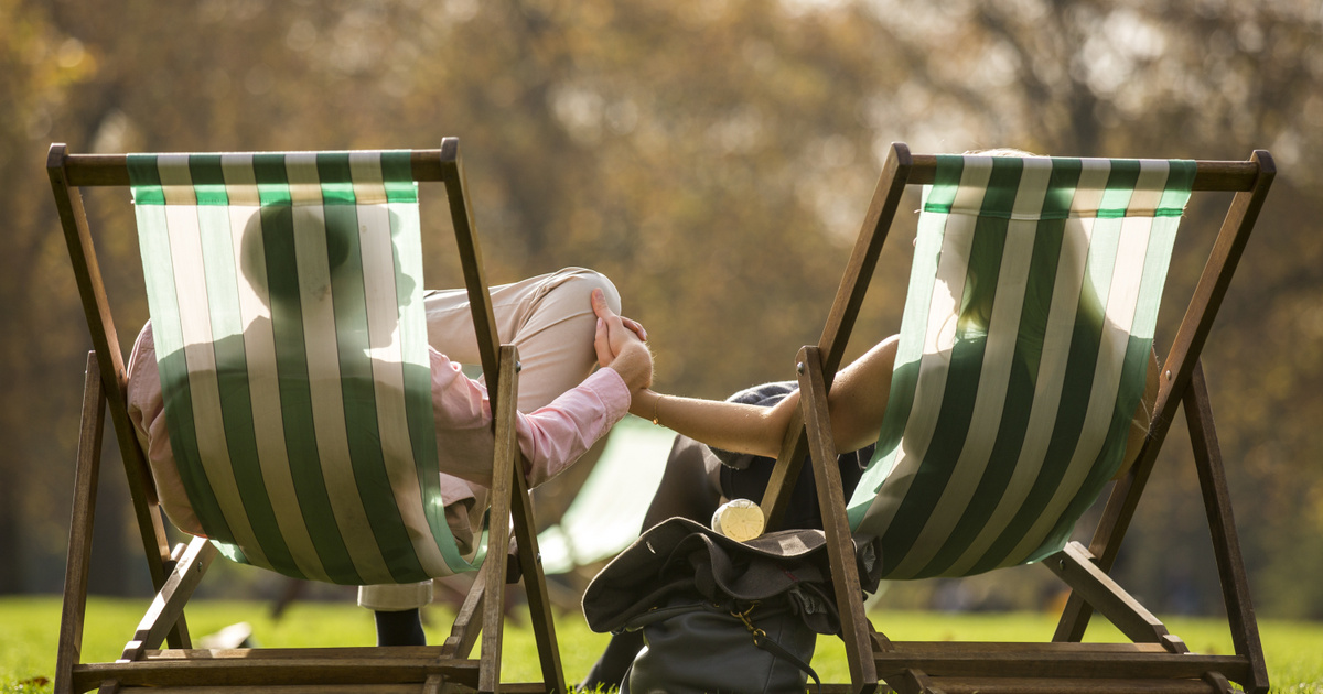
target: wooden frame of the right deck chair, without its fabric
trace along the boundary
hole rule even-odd
[[[762,502],[769,526],[775,529],[785,514],[791,484],[799,476],[800,461],[811,455],[832,574],[837,579],[836,599],[852,681],[849,686],[831,689],[872,691],[881,678],[896,691],[906,694],[1232,691],[1229,681],[1238,682],[1250,693],[1267,691],[1263,650],[1199,361],[1275,174],[1273,159],[1265,151],[1256,151],[1246,161],[1196,163],[1195,192],[1234,192],[1234,196],[1163,361],[1148,442],[1129,473],[1114,485],[1090,546],[1072,542],[1043,562],[1072,590],[1053,641],[892,642],[868,621],[855,560],[848,554],[851,534],[840,473],[835,465],[827,393],[905,188],[933,182],[935,167],[937,157],[933,155],[912,155],[901,143],[892,145],[822,338],[798,354],[799,383],[804,395],[787,430],[777,472]],[[1234,656],[1188,653],[1180,638],[1167,633],[1162,621],[1107,576],[1179,405],[1184,405],[1189,423]],[[1080,642],[1093,611],[1103,613],[1134,642]]]

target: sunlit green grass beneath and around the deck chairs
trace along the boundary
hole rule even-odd
[[[93,599],[87,607],[83,633],[83,661],[114,660],[138,624],[146,600]],[[450,613],[430,608],[427,637],[445,638]],[[1045,641],[1056,620],[1039,613],[946,615],[935,612],[875,612],[873,624],[894,640],[1008,640]],[[280,621],[267,616],[265,603],[204,601],[189,608],[189,632],[206,635],[235,621],[253,625],[261,646],[370,645],[374,642],[370,613],[348,603],[295,603]],[[57,598],[0,598],[0,691],[50,691],[56,666],[56,640],[60,631]],[[1230,653],[1226,625],[1212,619],[1172,619],[1168,628],[1180,635],[1192,650]],[[1323,694],[1323,624],[1265,620],[1259,624],[1267,656],[1273,691]],[[577,681],[587,672],[606,644],[606,635],[593,633],[578,615],[557,620],[561,661],[566,678]],[[1122,640],[1107,628],[1091,628],[1088,640]],[[836,638],[820,638],[814,668],[823,681],[844,681],[848,670],[844,650]],[[512,627],[505,631],[504,678],[537,678],[532,631]]]

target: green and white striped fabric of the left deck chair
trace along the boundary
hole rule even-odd
[[[171,447],[229,558],[471,570],[438,489],[409,152],[130,155]]]

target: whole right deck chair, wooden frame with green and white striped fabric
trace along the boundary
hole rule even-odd
[[[811,453],[852,683],[901,693],[1267,690],[1199,354],[1274,176],[1248,161],[917,156],[893,144],[818,345],[763,509]],[[827,393],[908,185],[925,185],[877,452],[849,498]],[[1118,472],[1191,192],[1236,192],[1171,350],[1150,432],[1089,547],[1076,521]],[[1177,405],[1185,406],[1234,656],[1192,654],[1109,575]],[[882,578],[1041,563],[1070,588],[1053,642],[893,642],[869,624],[851,538]],[[1093,611],[1126,644],[1080,642]]]

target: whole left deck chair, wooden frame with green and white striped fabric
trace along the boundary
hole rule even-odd
[[[501,345],[459,145],[389,152],[70,155],[48,172],[91,329],[56,691],[208,685],[327,691],[564,691]],[[495,412],[486,557],[462,555],[438,489],[418,181],[446,186]],[[205,534],[173,550],[126,411],[124,360],[85,186],[132,190],[169,440]],[[159,591],[115,662],[81,662],[108,406]],[[511,518],[517,550],[511,553]],[[191,648],[184,605],[217,555],[339,584],[479,571],[437,646]],[[479,553],[482,554],[482,553]],[[500,682],[504,586],[528,594],[541,682]],[[471,657],[479,635],[482,657]],[[168,648],[163,648],[168,645]]]

